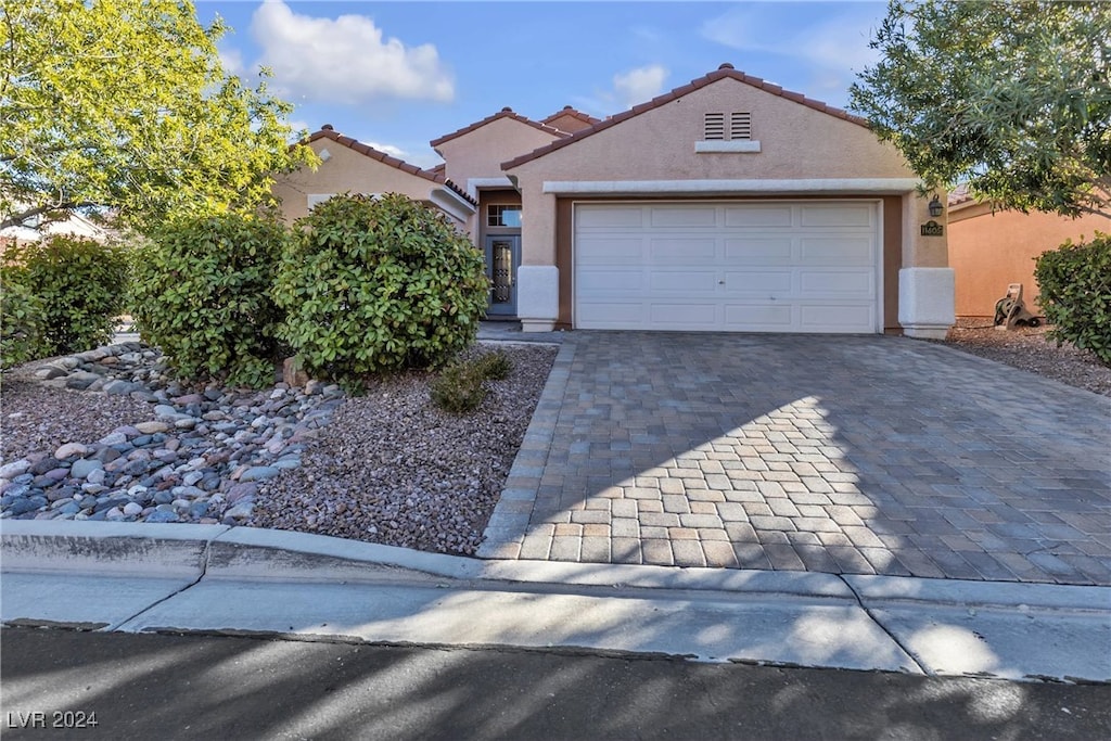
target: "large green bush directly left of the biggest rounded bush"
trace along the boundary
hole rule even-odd
[[[272,383],[281,312],[271,290],[287,238],[266,216],[168,221],[134,266],[133,314],[143,339],[182,378]]]

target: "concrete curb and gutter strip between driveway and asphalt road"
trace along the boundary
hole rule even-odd
[[[223,525],[0,523],[0,619],[1111,681],[1111,588],[482,561]]]

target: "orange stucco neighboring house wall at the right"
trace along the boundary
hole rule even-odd
[[[1038,313],[1034,260],[1064,240],[1111,233],[1111,219],[1087,214],[1077,219],[1031,211],[998,211],[977,201],[968,188],[949,194],[949,264],[957,280],[958,317],[994,317],[995,302],[1011,283],[1022,283],[1027,308]]]

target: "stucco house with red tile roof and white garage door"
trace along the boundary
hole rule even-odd
[[[288,218],[347,190],[450,204],[486,251],[490,316],[526,331],[939,338],[953,322],[944,219],[899,152],[729,64],[605,120],[502,109],[433,140],[429,171],[328,129],[309,142],[331,159],[276,188]]]

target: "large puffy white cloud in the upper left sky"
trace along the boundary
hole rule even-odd
[[[259,64],[294,102],[358,104],[382,98],[448,102],[454,81],[433,44],[407,47],[366,16],[312,18],[268,0],[251,19]]]

